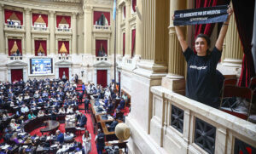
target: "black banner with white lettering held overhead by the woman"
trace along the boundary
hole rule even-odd
[[[227,9],[227,5],[220,5],[210,8],[176,10],[173,25],[187,26],[224,22],[229,15]]]

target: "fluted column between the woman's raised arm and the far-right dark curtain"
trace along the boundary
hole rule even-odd
[[[236,28],[235,15],[230,17],[230,25],[225,37],[223,66],[241,67],[242,48],[239,34]]]

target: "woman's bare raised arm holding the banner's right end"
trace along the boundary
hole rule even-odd
[[[219,35],[218,35],[218,39],[215,43],[215,47],[218,48],[218,50],[222,50],[223,47],[223,43],[224,43],[224,37],[226,36],[226,33],[228,31],[228,27],[229,27],[229,23],[230,23],[230,16],[233,13],[233,9],[231,9],[231,7],[227,10],[229,17],[228,20],[226,20],[226,22],[223,23],[220,31],[219,31]]]

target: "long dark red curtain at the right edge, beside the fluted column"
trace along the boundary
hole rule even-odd
[[[233,8],[236,18],[236,26],[243,48],[243,59],[241,66],[240,86],[248,87],[251,77],[255,76],[252,55],[253,39],[253,14],[255,1],[241,2],[233,0]]]

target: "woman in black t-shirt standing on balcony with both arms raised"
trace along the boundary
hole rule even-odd
[[[183,49],[185,60],[188,63],[186,96],[216,108],[219,106],[216,67],[221,58],[224,37],[228,30],[233,9],[230,8],[227,12],[229,14],[228,20],[223,23],[212,51],[209,50],[211,45],[210,38],[205,34],[199,34],[195,39],[195,54],[193,50],[189,48],[181,27],[175,26],[178,41]],[[174,20],[174,16],[172,16],[172,20]]]

